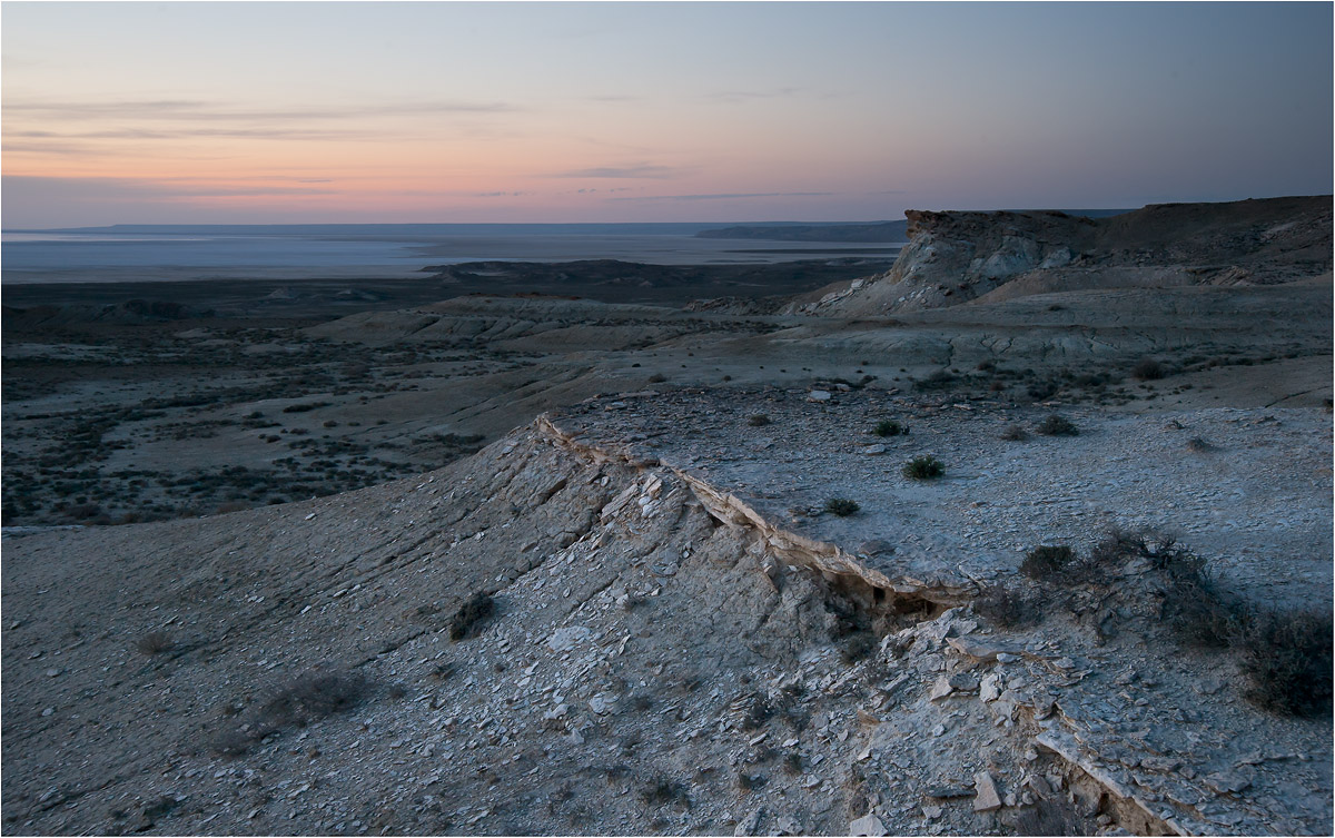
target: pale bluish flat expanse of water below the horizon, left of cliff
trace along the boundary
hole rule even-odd
[[[742,222],[745,223],[745,222]],[[117,224],[7,230],[4,283],[410,276],[462,262],[773,263],[897,246],[697,239],[732,224]]]

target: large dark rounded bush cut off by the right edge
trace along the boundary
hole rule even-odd
[[[1332,643],[1330,612],[1254,614],[1238,641],[1247,698],[1282,715],[1328,715]]]

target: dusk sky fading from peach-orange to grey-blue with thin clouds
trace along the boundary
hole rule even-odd
[[[1330,3],[0,3],[0,223],[880,220],[1332,189]]]

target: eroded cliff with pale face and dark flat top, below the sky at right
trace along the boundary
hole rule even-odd
[[[909,210],[888,272],[789,314],[878,316],[1031,294],[1271,284],[1331,270],[1331,200],[1152,204],[1104,219]]]

